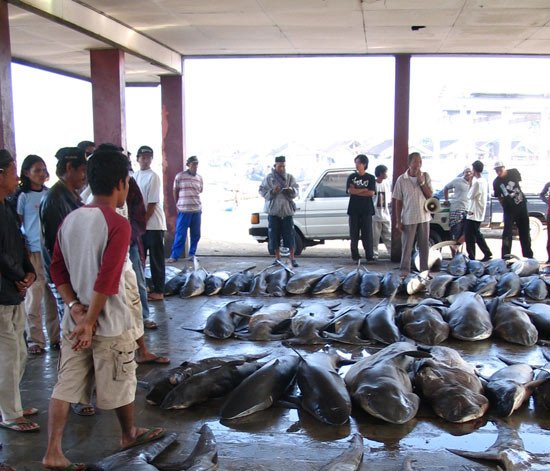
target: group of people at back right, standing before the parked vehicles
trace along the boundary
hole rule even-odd
[[[367,172],[369,159],[357,155],[354,159],[355,172],[346,182],[349,195],[347,214],[349,217],[349,238],[351,258],[360,260],[359,241],[363,246],[366,263],[378,258],[380,242],[391,252],[392,212],[394,223],[401,234],[400,270],[403,276],[411,271],[411,255],[416,244],[419,252],[419,269],[428,269],[429,233],[432,219],[430,199],[433,188],[430,175],[422,171],[422,156],[413,152],[408,156],[408,168],[400,175],[392,190],[388,182],[388,169],[384,165],[375,168],[374,175]],[[496,178],[493,181],[493,194],[498,198],[502,209],[504,228],[502,233],[502,258],[512,251],[514,226],[517,228],[522,254],[532,258],[531,237],[527,199],[521,189],[521,174],[517,169],[506,169],[503,162],[495,162]],[[480,160],[464,169],[462,175],[454,178],[443,188],[443,205],[449,207],[450,234],[455,242],[453,253],[462,250],[465,243],[468,256],[475,260],[476,245],[483,253],[481,261],[493,258],[493,254],[481,233],[481,223],[485,220],[489,184],[483,177],[484,164]],[[449,200],[450,191],[453,198]],[[286,172],[286,158],[275,158],[272,171],[259,188],[265,199],[264,212],[268,214],[268,241],[270,253],[280,260],[281,243],[290,250],[292,266],[298,266],[295,258],[295,234],[293,216],[296,211],[294,199],[298,196],[298,185],[294,177]],[[548,203],[550,183],[546,184],[540,197]],[[390,202],[392,202],[390,204]],[[548,210],[550,214],[550,205]],[[547,224],[548,224],[547,217]],[[550,235],[547,243],[550,263]]]

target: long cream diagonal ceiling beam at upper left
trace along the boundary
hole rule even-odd
[[[8,3],[133,54],[169,73],[182,73],[182,56],[178,52],[73,0],[8,0]]]

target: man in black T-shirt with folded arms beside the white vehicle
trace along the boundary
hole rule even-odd
[[[374,175],[367,173],[369,159],[366,155],[359,154],[355,157],[355,172],[346,182],[346,191],[349,196],[349,236],[351,258],[359,260],[359,239],[365,250],[367,261],[374,260],[372,247],[372,216],[374,204],[372,197],[376,192]]]

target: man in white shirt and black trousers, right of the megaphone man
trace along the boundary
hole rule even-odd
[[[487,209],[487,194],[489,184],[481,176],[483,172],[483,162],[476,160],[472,164],[474,176],[472,178],[472,185],[468,191],[468,211],[466,215],[466,225],[464,227],[464,235],[466,239],[466,250],[468,251],[468,257],[471,260],[476,258],[476,244],[483,252],[482,262],[491,260],[493,254],[491,249],[487,246],[483,234],[479,230],[479,226],[485,219],[485,210]]]

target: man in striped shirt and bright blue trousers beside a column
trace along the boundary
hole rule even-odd
[[[198,167],[199,159],[192,155],[187,159],[187,170],[178,173],[174,179],[174,201],[178,208],[178,219],[168,263],[177,262],[185,247],[188,230],[191,239],[189,257],[192,258],[197,253],[197,245],[201,238],[202,205],[200,194],[203,189],[202,177],[197,174]]]

